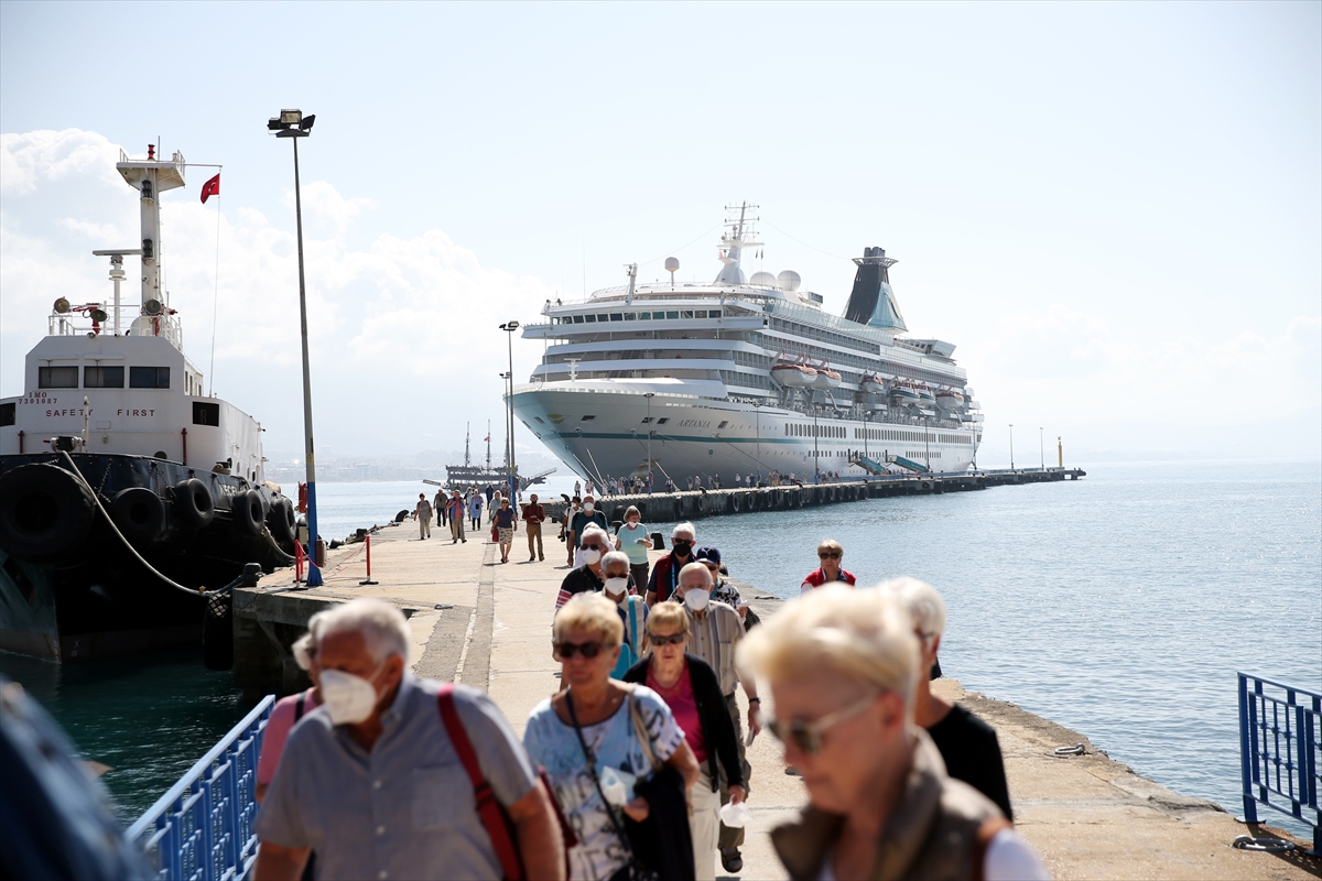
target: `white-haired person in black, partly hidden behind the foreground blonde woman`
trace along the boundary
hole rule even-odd
[[[1005,819],[1014,820],[1005,759],[995,729],[964,707],[932,693],[932,670],[945,633],[945,601],[936,588],[917,579],[895,579],[879,588],[894,596],[914,619],[921,663],[914,699],[914,721],[927,729],[945,761],[945,771],[995,802]]]

